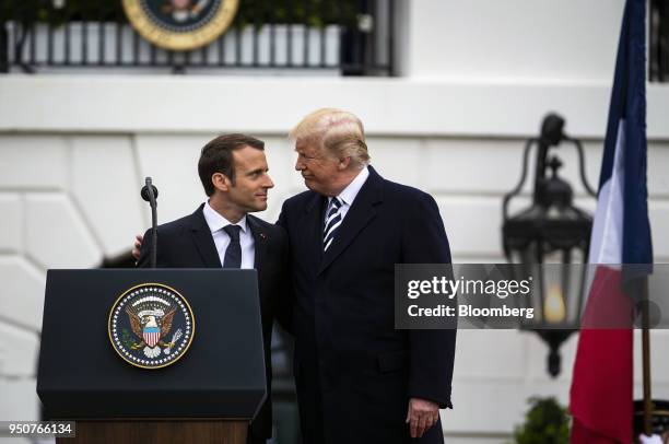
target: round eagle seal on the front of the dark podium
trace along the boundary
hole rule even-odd
[[[109,313],[109,340],[128,363],[161,369],[188,351],[195,335],[190,305],[176,290],[143,283],[121,294]]]

